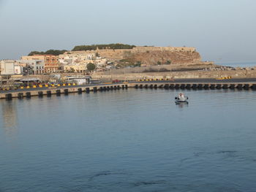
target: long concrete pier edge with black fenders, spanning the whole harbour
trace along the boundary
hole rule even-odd
[[[238,90],[256,90],[256,82],[218,82],[218,83],[176,83],[176,82],[129,82],[120,84],[99,84],[99,85],[84,85],[84,86],[72,86],[72,87],[56,87],[56,88],[31,88],[31,89],[18,89],[12,91],[1,91],[0,99],[22,99],[24,97],[30,98],[31,96],[51,96],[53,94],[60,95],[62,93],[90,93],[97,91],[113,91],[127,88],[165,88],[165,89],[193,89],[193,90],[214,90],[214,89],[238,89]]]

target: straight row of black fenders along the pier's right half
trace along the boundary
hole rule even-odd
[[[211,84],[211,83],[172,83],[172,84],[135,84],[135,88],[165,88],[165,89],[194,89],[194,90],[203,90],[203,89],[238,89],[238,90],[256,90],[256,84]]]

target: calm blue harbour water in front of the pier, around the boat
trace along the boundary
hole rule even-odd
[[[0,101],[0,191],[256,191],[256,92]]]

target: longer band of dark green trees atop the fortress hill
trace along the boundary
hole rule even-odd
[[[135,45],[120,44],[120,43],[116,43],[116,44],[99,44],[99,45],[78,45],[78,46],[75,46],[72,49],[72,51],[77,51],[77,50],[97,50],[97,48],[99,50],[102,50],[102,49],[117,50],[117,49],[132,49],[133,47],[136,47],[136,46]]]

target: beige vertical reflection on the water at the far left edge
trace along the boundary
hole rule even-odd
[[[5,134],[13,136],[17,132],[17,109],[15,101],[1,101],[1,127]]]

